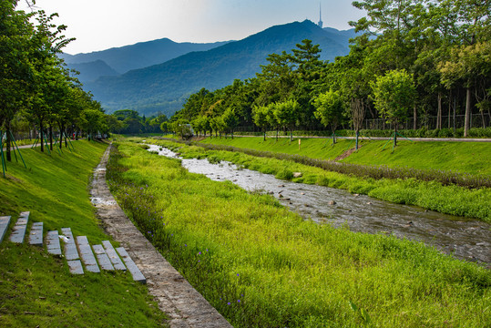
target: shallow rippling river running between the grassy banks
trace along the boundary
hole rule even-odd
[[[159,155],[179,158],[169,149],[148,146],[149,151],[158,151]],[[346,190],[276,179],[271,174],[238,169],[228,162],[210,164],[207,159],[182,159],[182,166],[213,180],[230,180],[244,190],[270,193],[305,219],[334,227],[347,225],[350,231],[423,241],[458,259],[491,263],[491,224],[480,220],[353,195]]]

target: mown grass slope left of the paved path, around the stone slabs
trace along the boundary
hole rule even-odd
[[[43,154],[21,149],[25,169],[7,164],[0,178],[0,216],[16,220],[29,210],[29,226],[43,221],[44,230],[70,227],[91,244],[110,238],[99,227],[87,183],[107,144],[77,141],[75,151]],[[10,228],[12,229],[13,223]],[[66,261],[46,250],[8,241],[0,244],[0,326],[2,327],[156,327],[163,314],[147,288],[129,273],[68,272]]]

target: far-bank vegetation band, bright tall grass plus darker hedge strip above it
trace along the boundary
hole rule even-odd
[[[411,177],[411,174],[414,174],[416,170],[412,169],[398,171],[388,168],[373,168],[372,170],[366,166],[347,166],[345,168],[347,171],[340,173],[335,162],[320,159],[261,152],[254,149],[213,150],[197,146],[183,146],[171,141],[155,141],[156,144],[176,149],[184,158],[207,158],[212,162],[227,160],[245,169],[274,174],[279,179],[344,189],[380,200],[416,205],[445,214],[491,221],[490,188],[469,189],[455,184],[442,185],[435,179],[428,179],[427,181],[415,179]],[[350,169],[352,171],[349,171]],[[358,170],[362,170],[362,172],[357,172]],[[302,172],[302,177],[294,178],[294,172]],[[404,172],[408,174],[408,177],[402,176]],[[425,171],[422,172],[425,175]],[[367,176],[363,177],[363,174]],[[450,176],[442,173],[442,179],[448,177]],[[461,178],[463,177],[465,176]],[[483,183],[485,183],[486,180],[484,179],[488,178],[476,179],[483,179]]]

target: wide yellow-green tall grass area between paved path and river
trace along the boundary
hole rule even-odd
[[[107,177],[148,240],[235,327],[482,327],[491,273],[422,243],[332,229],[121,142]],[[198,150],[197,150],[198,151]]]

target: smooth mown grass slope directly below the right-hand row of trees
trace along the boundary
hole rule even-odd
[[[243,149],[259,149],[271,152],[296,154],[312,159],[336,159],[354,142],[338,139],[332,146],[331,139],[303,138],[299,150],[298,139],[288,138],[276,141],[274,138],[206,138],[202,143],[228,145]],[[486,142],[411,142],[401,139],[398,146],[384,148],[386,141],[363,140],[362,148],[343,162],[362,165],[384,165],[388,167],[410,167],[414,169],[441,169],[462,173],[491,176],[491,143]]]

